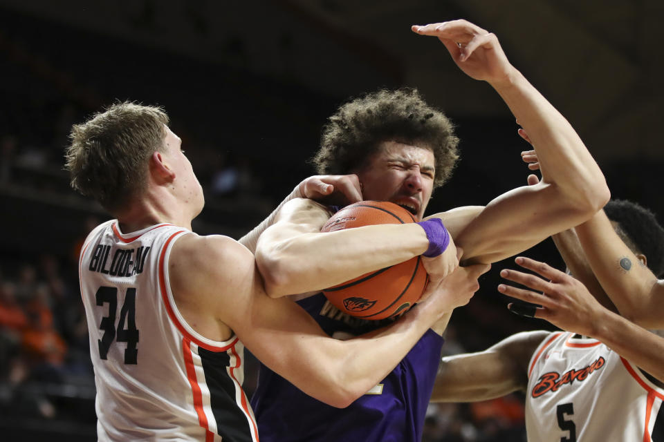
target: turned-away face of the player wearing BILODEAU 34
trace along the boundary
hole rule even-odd
[[[196,216],[201,213],[205,203],[203,188],[194,174],[192,163],[182,150],[182,140],[169,128],[165,128],[165,131],[165,154],[168,157],[169,166],[175,172],[176,191],[183,202],[192,208],[193,216]]]

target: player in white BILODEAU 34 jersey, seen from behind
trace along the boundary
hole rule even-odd
[[[160,108],[115,104],[74,126],[66,153],[73,187],[116,217],[89,234],[80,257],[101,441],[258,441],[241,388],[244,345],[302,391],[343,407],[479,287],[488,266],[460,268],[414,314],[358,339],[329,338],[295,303],[266,296],[249,249],[192,233],[203,192],[167,124]],[[347,180],[299,187],[324,194]]]

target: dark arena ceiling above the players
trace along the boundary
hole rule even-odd
[[[409,29],[465,18],[495,32],[600,160],[664,157],[659,0],[0,0],[0,7],[340,99],[417,86],[454,115],[509,117],[490,87],[460,73],[438,41]]]

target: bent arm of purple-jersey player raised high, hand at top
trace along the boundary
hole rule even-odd
[[[457,66],[488,81],[533,141],[542,182],[492,200],[455,238],[463,259],[493,262],[589,219],[609,200],[593,157],[569,122],[505,57],[495,35],[465,20],[414,26],[439,37]]]

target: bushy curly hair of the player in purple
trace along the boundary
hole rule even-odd
[[[430,148],[436,158],[434,186],[443,184],[459,154],[459,138],[445,115],[426,104],[416,89],[378,90],[343,104],[323,127],[313,157],[318,173],[360,169],[381,142]]]

